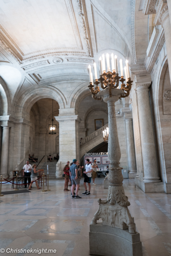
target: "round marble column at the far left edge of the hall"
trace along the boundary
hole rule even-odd
[[[9,126],[3,126],[1,147],[1,170],[3,178],[8,178],[8,150],[9,150]]]

